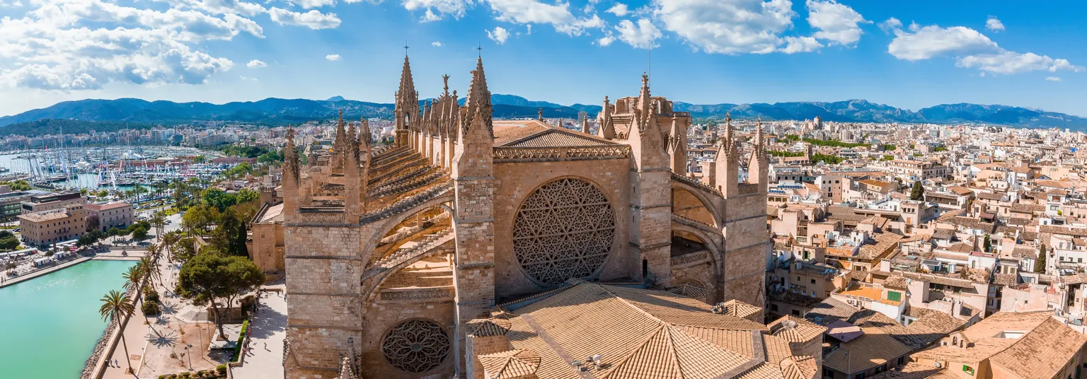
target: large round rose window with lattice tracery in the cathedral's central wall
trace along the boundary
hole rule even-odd
[[[555,286],[591,276],[615,236],[615,215],[600,190],[573,178],[534,191],[513,222],[513,251],[533,280]]]

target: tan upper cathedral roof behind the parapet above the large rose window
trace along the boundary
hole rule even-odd
[[[580,131],[558,128],[537,119],[495,121],[495,147],[567,148],[617,144]]]

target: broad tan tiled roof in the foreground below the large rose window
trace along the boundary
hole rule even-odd
[[[512,312],[507,338],[539,354],[540,378],[584,378],[578,362],[594,378],[796,378],[809,368],[762,324],[666,291],[579,282]],[[585,358],[594,355],[601,363]]]

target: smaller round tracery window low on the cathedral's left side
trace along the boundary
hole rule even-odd
[[[426,372],[449,356],[449,336],[437,323],[410,319],[385,334],[382,353],[393,367],[408,372]]]

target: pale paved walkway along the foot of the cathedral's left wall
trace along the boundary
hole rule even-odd
[[[282,286],[280,286],[282,287]],[[237,379],[283,379],[283,341],[287,337],[287,300],[283,292],[260,292],[260,307],[249,325],[245,364],[232,371]]]

